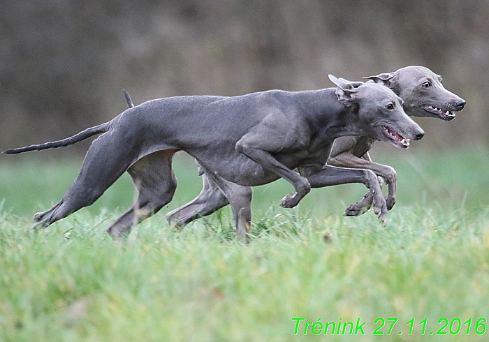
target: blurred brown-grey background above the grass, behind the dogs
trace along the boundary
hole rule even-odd
[[[425,147],[487,144],[488,17],[488,0],[1,0],[0,148],[108,121],[122,89],[319,89],[407,65],[467,100],[455,121],[417,119]]]

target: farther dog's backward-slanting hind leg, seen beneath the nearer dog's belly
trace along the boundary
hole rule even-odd
[[[226,195],[219,189],[212,178],[202,175],[203,188],[194,200],[166,214],[168,223],[183,227],[197,218],[212,214],[229,204]]]

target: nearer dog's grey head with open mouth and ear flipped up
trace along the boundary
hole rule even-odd
[[[349,82],[332,75],[329,78],[337,86],[338,101],[353,112],[353,124],[358,125],[361,135],[406,149],[410,140],[419,140],[425,134],[406,115],[401,98],[388,87],[374,82]]]

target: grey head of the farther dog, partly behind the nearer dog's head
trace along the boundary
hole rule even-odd
[[[391,88],[404,101],[404,110],[415,117],[455,118],[465,100],[443,86],[440,75],[424,66],[406,66],[393,73],[365,77]]]

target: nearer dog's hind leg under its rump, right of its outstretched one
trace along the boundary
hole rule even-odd
[[[133,225],[156,214],[172,200],[177,188],[177,179],[171,167],[173,154],[175,150],[154,152],[141,158],[127,170],[139,195],[131,209],[108,228],[107,232],[112,239],[128,235]]]

